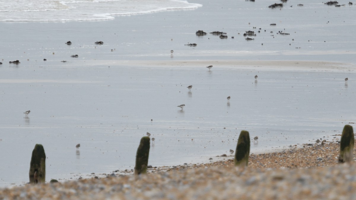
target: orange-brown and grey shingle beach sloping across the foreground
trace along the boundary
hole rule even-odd
[[[0,199],[352,199],[356,163],[337,164],[338,154],[338,142],[305,144],[251,154],[246,169],[234,167],[227,156],[206,164],[153,167],[138,177],[127,172],[5,188]]]

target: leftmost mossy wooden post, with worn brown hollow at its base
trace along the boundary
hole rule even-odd
[[[45,183],[46,154],[42,144],[36,144],[30,162],[30,183]]]

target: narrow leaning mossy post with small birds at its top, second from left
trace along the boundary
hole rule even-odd
[[[150,154],[150,137],[141,138],[140,145],[137,148],[135,175],[146,174],[148,165],[148,154]]]

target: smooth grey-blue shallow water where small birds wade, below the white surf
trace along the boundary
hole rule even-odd
[[[100,22],[2,22],[0,186],[27,182],[36,143],[45,148],[49,181],[132,169],[146,132],[156,138],[149,164],[176,165],[229,155],[241,130],[259,137],[251,146],[251,153],[257,153],[324,136],[331,140],[355,121],[353,67],[313,71],[213,64],[209,71],[195,65],[137,67],[126,61],[323,60],[354,65],[350,27],[355,19],[347,17],[354,6],[305,1],[300,2],[304,7],[292,2],[293,7],[271,10],[261,2],[194,3],[203,7]],[[251,12],[255,15],[247,15]],[[273,22],[281,25],[269,26]],[[253,41],[241,35],[258,27],[267,31]],[[291,35],[273,38],[269,33],[284,28]],[[199,29],[224,30],[229,38],[195,36]],[[335,30],[340,31],[333,34]],[[64,44],[68,40],[73,44]],[[104,44],[94,44],[99,40]],[[198,46],[184,46],[188,42]],[[71,58],[73,54],[79,57]],[[8,63],[16,59],[19,65]],[[186,105],[183,110],[180,104]],[[22,114],[26,110],[31,110],[28,117]]]

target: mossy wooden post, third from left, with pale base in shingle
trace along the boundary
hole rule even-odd
[[[235,151],[235,166],[247,167],[248,156],[250,155],[250,134],[248,131],[242,130],[237,141]]]

